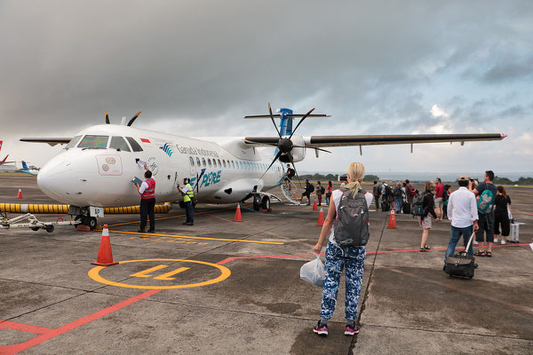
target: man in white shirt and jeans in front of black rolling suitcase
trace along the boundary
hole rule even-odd
[[[466,248],[473,230],[477,231],[479,229],[475,195],[466,187],[468,186],[468,177],[461,175],[458,184],[459,189],[451,193],[448,200],[448,219],[451,221],[451,236],[445,257],[454,254],[457,241],[459,241],[461,235]],[[469,256],[473,256],[473,243],[470,243],[470,248],[468,248],[466,253]]]

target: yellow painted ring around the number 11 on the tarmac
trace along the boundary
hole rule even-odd
[[[207,263],[205,261],[198,261],[198,260],[182,260],[182,259],[142,259],[142,260],[125,260],[121,261],[118,264],[127,264],[127,263],[139,263],[139,262],[147,262],[147,261],[179,261],[183,263],[195,263],[195,264],[204,264],[212,267],[216,267],[220,271],[219,277],[203,282],[196,282],[196,283],[190,283],[187,285],[174,285],[174,286],[144,286],[144,285],[129,285],[127,283],[122,282],[115,282],[111,280],[104,279],[99,275],[99,272],[102,269],[105,269],[107,266],[96,266],[93,267],[87,274],[92,280],[98,281],[100,283],[110,285],[110,286],[116,286],[119,288],[140,288],[140,289],[174,289],[174,288],[198,288],[201,286],[207,286],[212,285],[214,283],[226,280],[229,275],[231,275],[231,271],[224,266],[219,264],[211,264]]]

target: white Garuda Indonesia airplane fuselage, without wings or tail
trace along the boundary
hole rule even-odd
[[[242,138],[188,138],[104,124],[76,134],[39,171],[37,183],[53,199],[74,206],[131,206],[139,203],[131,179],[144,180],[140,161],[153,173],[158,203],[179,200],[177,185],[184,177],[199,201],[232,203],[280,184],[279,162],[259,179],[271,160],[271,153],[261,155]]]

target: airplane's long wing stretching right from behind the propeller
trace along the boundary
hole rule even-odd
[[[306,148],[320,148],[327,146],[374,146],[395,144],[421,144],[442,142],[464,142],[482,140],[501,140],[507,137],[503,133],[473,133],[473,134],[405,134],[384,136],[311,136],[304,137]],[[246,137],[246,145],[277,146],[279,137]]]

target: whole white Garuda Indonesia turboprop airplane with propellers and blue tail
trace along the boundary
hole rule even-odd
[[[276,198],[267,190],[282,183],[283,162],[301,162],[306,149],[316,156],[322,147],[367,146],[500,140],[505,134],[432,134],[402,136],[311,136],[294,132],[306,117],[328,117],[325,114],[292,114],[279,109],[279,114],[246,116],[270,118],[277,130],[274,137],[209,137],[190,138],[153,130],[131,127],[136,114],[126,124],[106,123],[80,131],[74,138],[20,138],[23,142],[67,144],[63,151],[47,162],[37,175],[37,184],[52,199],[70,204],[68,214],[85,225],[96,225],[95,208],[122,207],[139,203],[139,193],[131,183],[133,177],[143,179],[147,162],[155,178],[155,200],[179,200],[176,185],[191,179],[198,201],[235,203],[253,197],[254,209],[268,208]],[[281,118],[278,130],[274,117]],[[292,130],[294,118],[301,117]],[[259,147],[275,147],[272,153],[259,152]],[[326,151],[327,152],[327,151]],[[296,170],[296,169],[295,169]],[[290,193],[283,191],[287,198]],[[279,200],[279,199],[278,199]],[[100,216],[100,215],[99,215]]]

